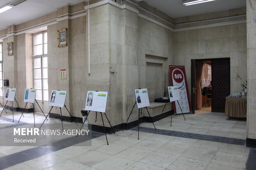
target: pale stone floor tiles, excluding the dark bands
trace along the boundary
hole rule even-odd
[[[14,119],[20,116],[15,113]],[[33,123],[33,114],[24,114],[21,121]],[[0,117],[12,119],[12,114]],[[246,121],[227,120],[222,113],[196,112],[173,116],[155,122],[157,129],[194,134],[214,135],[245,140]],[[36,120],[43,119],[36,115]],[[49,122],[57,122],[49,119]],[[9,122],[12,123],[12,122]],[[39,122],[38,122],[39,123]],[[67,122],[65,122],[67,123]],[[79,126],[79,125],[78,125]],[[152,123],[140,126],[154,128]],[[124,130],[92,139],[92,146],[70,146],[21,162],[6,170],[245,170],[250,148],[237,144],[211,142],[171,135]],[[31,147],[0,147],[1,157],[19,154]],[[34,147],[32,147],[34,148]],[[14,160],[15,161],[15,160]]]

